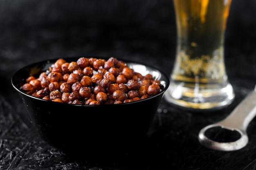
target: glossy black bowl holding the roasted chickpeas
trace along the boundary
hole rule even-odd
[[[72,62],[78,58],[64,59]],[[122,60],[142,75],[152,74],[163,85],[162,91],[153,97],[123,104],[64,104],[36,98],[20,90],[20,84],[27,77],[38,76],[56,60],[30,64],[18,70],[11,79],[42,139],[67,153],[83,152],[83,155],[127,152],[130,148],[139,148],[169,86],[166,74],[152,66]]]

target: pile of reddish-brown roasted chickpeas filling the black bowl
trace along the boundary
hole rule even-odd
[[[58,59],[39,77],[27,77],[21,90],[54,102],[80,105],[121,104],[157,95],[162,88],[152,75],[141,75],[125,62],[80,57]]]

